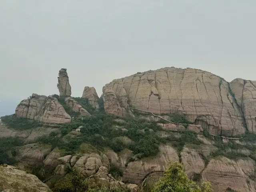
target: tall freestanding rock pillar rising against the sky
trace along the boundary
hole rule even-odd
[[[67,69],[62,68],[59,71],[57,87],[60,92],[60,97],[70,97],[71,96],[71,86],[70,86],[69,80],[68,80]]]

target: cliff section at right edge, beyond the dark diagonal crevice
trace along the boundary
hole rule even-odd
[[[248,131],[256,133],[256,81],[237,78],[230,82],[230,88],[245,118]]]

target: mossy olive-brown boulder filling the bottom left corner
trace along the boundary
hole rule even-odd
[[[36,176],[13,166],[0,166],[0,190],[4,192],[52,192]]]

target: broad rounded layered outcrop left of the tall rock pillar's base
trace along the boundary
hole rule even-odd
[[[38,94],[32,94],[30,98],[22,100],[15,114],[17,117],[44,123],[68,123],[71,119],[57,98]]]

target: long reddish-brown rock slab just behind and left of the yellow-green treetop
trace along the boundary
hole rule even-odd
[[[160,157],[150,160],[142,159],[128,163],[124,171],[123,181],[139,184],[146,175],[153,172],[163,173],[170,161],[178,161],[179,157],[174,148],[168,145],[160,146]]]

